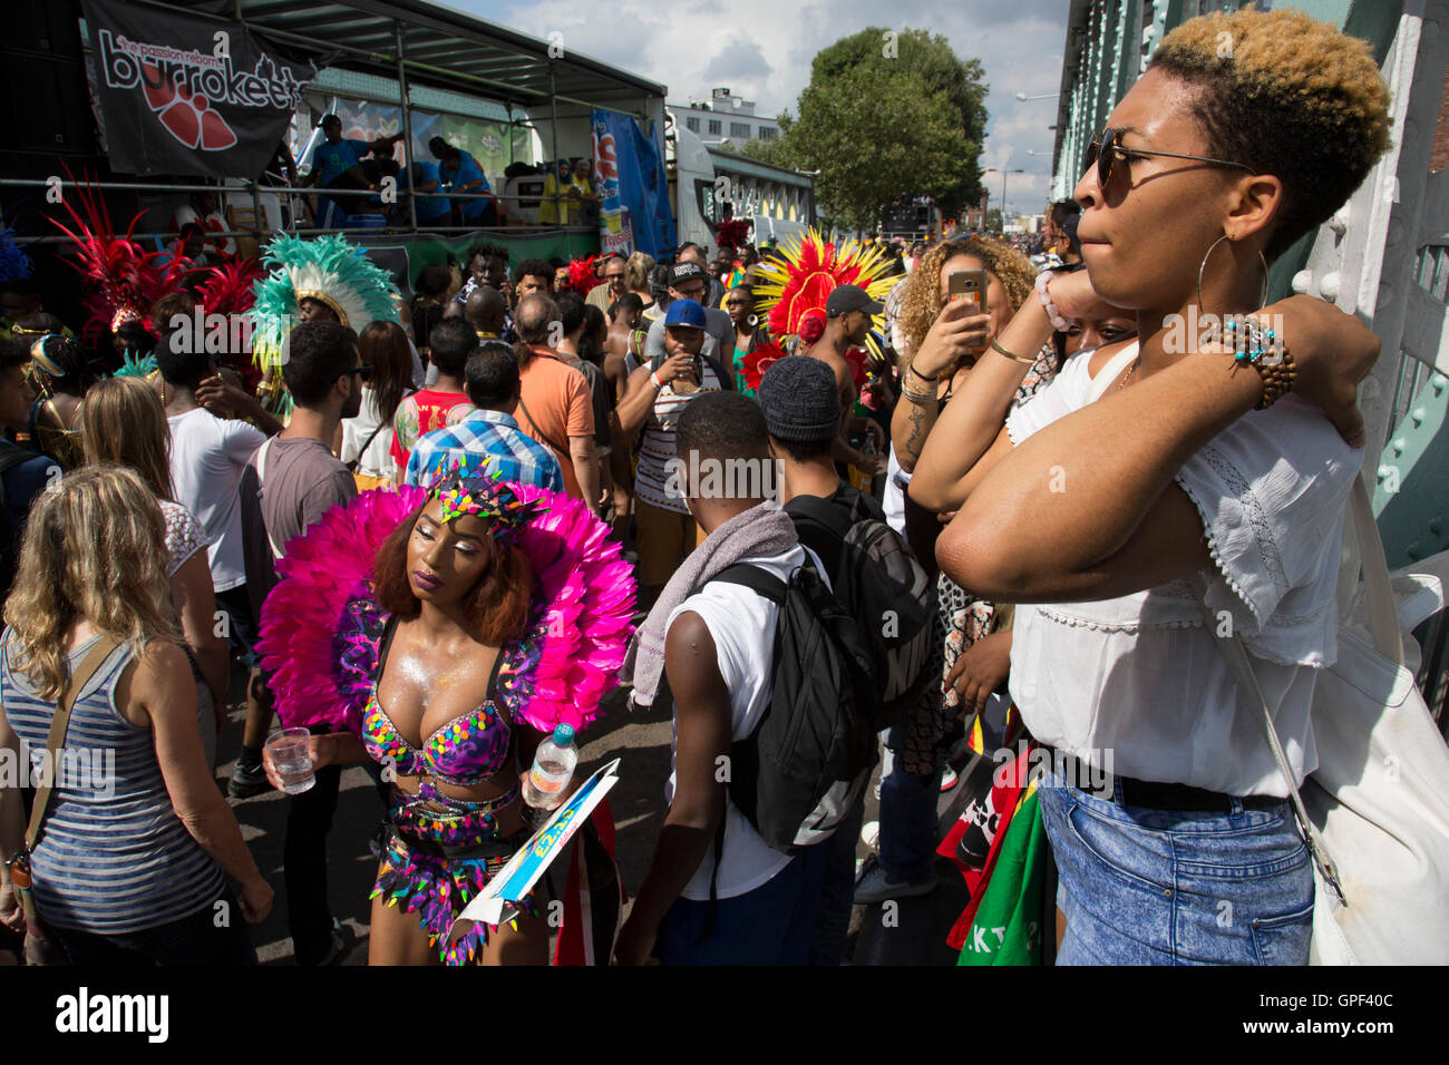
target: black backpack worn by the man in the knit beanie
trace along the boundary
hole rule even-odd
[[[819,496],[796,496],[785,513],[801,543],[814,546],[819,535],[843,540],[830,587],[871,649],[881,698],[877,726],[884,729],[927,684],[939,681],[926,671],[936,588],[900,533],[875,517],[859,494],[849,514]]]

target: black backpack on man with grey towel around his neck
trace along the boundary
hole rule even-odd
[[[798,853],[835,832],[875,768],[871,652],[809,561],[788,584],[745,564],[711,580],[780,606],[774,693],[755,730],[730,749],[729,794],[771,848]],[[723,836],[720,819],[716,872]]]

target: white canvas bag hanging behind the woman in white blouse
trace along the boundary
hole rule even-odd
[[[1404,630],[1443,606],[1436,577],[1400,578],[1395,606],[1384,545],[1364,480],[1349,513],[1362,585],[1339,626],[1337,661],[1319,671],[1313,732],[1319,768],[1301,788],[1278,742],[1252,661],[1219,636],[1240,684],[1264,710],[1274,759],[1288,782],[1313,855],[1313,965],[1449,962],[1449,748],[1406,665]],[[1216,633],[1216,626],[1210,626]],[[1407,640],[1417,664],[1417,646]]]

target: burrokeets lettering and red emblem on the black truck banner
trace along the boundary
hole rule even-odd
[[[252,71],[236,70],[230,55],[181,51],[97,33],[101,77],[110,88],[141,85],[146,104],[177,141],[203,152],[223,152],[238,142],[216,104],[296,110],[303,83],[268,55]]]

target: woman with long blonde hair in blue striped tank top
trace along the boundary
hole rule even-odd
[[[0,746],[16,762],[29,748],[26,769],[46,749],[71,671],[101,639],[119,640],[77,693],[65,772],[29,855],[39,917],[75,965],[255,964],[243,922],[264,920],[272,904],[201,751],[168,558],[161,509],[141,478],[87,467],[36,497],[6,603]],[[7,864],[20,858],[25,830],[20,791],[7,781]],[[9,877],[0,920],[25,926]]]

